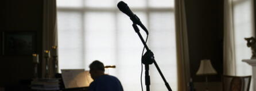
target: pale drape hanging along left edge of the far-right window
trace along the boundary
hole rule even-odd
[[[224,1],[223,74],[235,76],[235,43],[232,0]]]

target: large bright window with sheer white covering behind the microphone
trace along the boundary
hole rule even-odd
[[[125,90],[141,90],[143,44],[129,17],[117,9],[116,0],[57,0],[59,68],[89,70],[100,60],[117,76]],[[177,90],[176,36],[173,0],[124,1],[148,27],[148,46],[166,80]],[[141,34],[146,37],[141,29]],[[144,70],[143,70],[144,71]],[[151,90],[167,90],[154,65],[150,65]],[[143,72],[144,75],[144,72]],[[142,76],[145,86],[144,76]],[[145,88],[144,88],[145,90]]]

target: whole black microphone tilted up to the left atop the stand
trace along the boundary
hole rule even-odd
[[[141,23],[141,20],[139,20],[138,16],[133,14],[133,12],[130,10],[129,6],[125,2],[118,2],[117,7],[120,11],[128,15],[133,23],[138,24],[146,32],[146,34],[149,35],[147,28]]]

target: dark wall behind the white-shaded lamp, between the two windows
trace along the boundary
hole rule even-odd
[[[194,82],[204,82],[196,76],[200,60],[210,59],[218,75],[210,82],[220,82],[223,74],[223,1],[185,1],[188,27],[189,66]]]

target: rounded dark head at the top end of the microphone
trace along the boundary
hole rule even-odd
[[[134,15],[133,12],[130,10],[129,6],[123,1],[118,2],[117,7],[120,11],[130,17]]]

